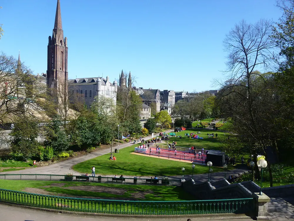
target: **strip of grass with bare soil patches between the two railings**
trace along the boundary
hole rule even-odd
[[[56,186],[54,184],[59,184],[59,186]],[[64,185],[62,186],[60,184]],[[103,199],[116,198],[122,200],[147,201],[173,201],[194,199],[191,194],[186,193],[181,187],[178,186],[144,186],[31,180],[0,180],[0,186],[1,189],[10,189],[16,191],[24,191],[26,187],[33,187],[52,192],[49,195],[66,194],[71,197],[85,198],[97,197]]]

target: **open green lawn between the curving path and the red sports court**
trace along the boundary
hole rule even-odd
[[[119,150],[119,154],[114,154],[116,161],[109,160],[109,155],[102,155],[96,158],[78,163],[73,166],[79,173],[91,174],[91,167],[95,166],[96,174],[101,175],[128,175],[128,176],[174,176],[182,175],[181,168],[184,167],[185,174],[192,174],[190,163],[171,161],[166,159],[153,158],[130,154],[138,144]],[[223,171],[223,168],[213,167],[214,172]],[[207,166],[195,164],[194,174],[208,172]]]

